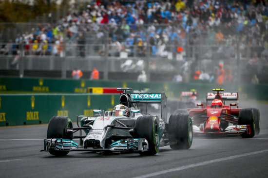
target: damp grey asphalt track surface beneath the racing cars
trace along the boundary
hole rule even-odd
[[[160,147],[155,156],[138,153],[70,152],[54,157],[43,149],[47,125],[0,129],[0,178],[268,178],[268,104],[260,109],[261,132],[240,136],[194,137],[188,150]]]

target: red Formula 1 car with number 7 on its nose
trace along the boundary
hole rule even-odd
[[[258,109],[238,108],[238,93],[226,93],[223,89],[213,91],[206,94],[205,108],[203,104],[197,104],[202,108],[188,109],[194,134],[240,134],[243,138],[251,138],[260,132]],[[235,103],[225,105],[226,101]]]

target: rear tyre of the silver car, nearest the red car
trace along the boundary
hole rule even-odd
[[[172,114],[168,125],[172,149],[189,149],[192,144],[192,122],[189,114]]]

